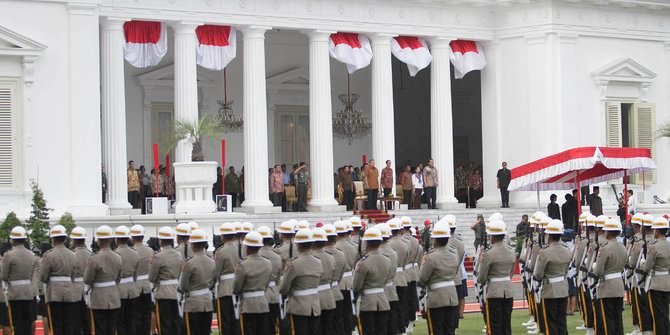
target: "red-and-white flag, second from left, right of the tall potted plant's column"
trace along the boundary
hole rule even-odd
[[[195,29],[198,35],[196,61],[210,70],[223,70],[237,53],[235,28],[204,25]]]

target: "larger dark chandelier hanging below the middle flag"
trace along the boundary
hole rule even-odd
[[[335,113],[333,117],[333,133],[337,138],[348,140],[349,145],[351,145],[351,140],[366,136],[372,129],[370,117],[354,109],[354,104],[359,97],[358,94],[351,94],[349,74],[347,74],[347,93],[339,95],[344,109]]]

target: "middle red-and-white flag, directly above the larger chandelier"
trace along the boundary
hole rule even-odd
[[[362,34],[336,33],[330,35],[330,56],[347,64],[349,74],[370,65],[372,47],[370,40]]]

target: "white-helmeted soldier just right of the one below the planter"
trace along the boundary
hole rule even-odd
[[[216,291],[216,317],[218,318],[219,334],[237,335],[240,327],[235,317],[235,303],[233,302],[233,282],[235,268],[240,263],[237,251],[237,232],[235,224],[224,222],[219,227],[223,246],[214,253],[214,272],[212,281],[218,283]]]

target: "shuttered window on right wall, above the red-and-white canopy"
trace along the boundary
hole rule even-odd
[[[656,157],[656,106],[651,103],[608,102],[607,146],[649,148]],[[631,184],[655,184],[656,172],[631,176]]]

